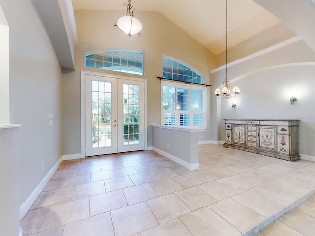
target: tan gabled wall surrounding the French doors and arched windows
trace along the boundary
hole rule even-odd
[[[160,80],[156,77],[162,76],[163,55],[189,63],[204,74],[205,83],[210,83],[209,71],[214,68],[214,56],[186,32],[158,12],[137,12],[136,17],[143,25],[141,36],[127,37],[113,28],[121,15],[121,12],[114,11],[75,11],[79,38],[75,50],[76,71],[63,74],[63,154],[81,153],[80,71],[121,75],[85,67],[85,52],[122,47],[144,51],[145,75],[138,77],[148,81],[148,110],[145,111],[148,116],[148,146],[151,146],[150,125],[160,123]],[[204,132],[203,139],[209,138],[210,128]]]

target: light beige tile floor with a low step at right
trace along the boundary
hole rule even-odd
[[[63,161],[23,236],[315,235],[314,162],[209,144],[199,163],[189,171],[154,151]]]

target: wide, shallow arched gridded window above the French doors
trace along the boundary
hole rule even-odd
[[[143,75],[143,52],[119,49],[87,52],[85,66]]]

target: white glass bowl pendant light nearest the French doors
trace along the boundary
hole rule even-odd
[[[141,22],[133,17],[133,9],[134,7],[131,6],[131,0],[128,0],[128,5],[124,3],[127,7],[127,13],[125,16],[122,16],[118,19],[117,24],[114,23],[114,28],[118,27],[118,29],[122,30],[126,33],[129,37],[139,34],[142,29]]]

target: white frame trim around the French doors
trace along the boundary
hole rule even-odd
[[[104,76],[115,79],[134,80],[144,83],[144,150],[148,149],[148,122],[147,122],[147,79],[112,75],[93,71],[81,70],[81,158],[85,158],[85,75]]]

